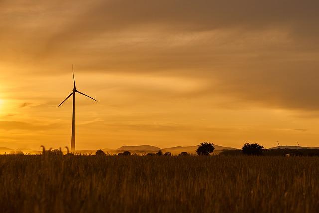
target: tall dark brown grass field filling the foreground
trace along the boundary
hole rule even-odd
[[[0,212],[317,212],[319,157],[0,156]]]

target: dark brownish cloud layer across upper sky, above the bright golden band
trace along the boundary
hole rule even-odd
[[[34,72],[77,63],[85,72],[161,73],[211,82],[196,96],[319,110],[319,1],[1,4],[3,61],[37,66]]]

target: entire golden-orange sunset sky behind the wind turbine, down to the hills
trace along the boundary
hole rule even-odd
[[[319,146],[319,1],[0,0],[0,147]]]

